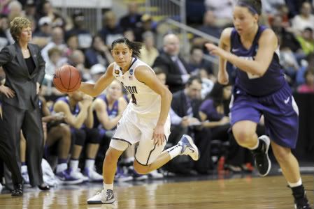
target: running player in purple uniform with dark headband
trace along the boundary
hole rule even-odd
[[[238,1],[234,8],[234,28],[224,29],[219,47],[209,43],[206,47],[210,54],[220,57],[218,82],[229,82],[225,69],[227,61],[237,68],[230,104],[236,141],[252,150],[261,176],[266,176],[271,169],[268,156],[271,144],[292,189],[294,207],[311,208],[302,185],[299,164],[291,153],[291,148],[297,144],[298,107],[279,64],[276,34],[258,24],[261,10],[261,1]],[[257,138],[256,127],[262,115],[268,136]]]

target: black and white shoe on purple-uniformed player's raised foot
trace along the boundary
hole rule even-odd
[[[255,167],[259,171],[260,176],[266,176],[271,171],[271,160],[269,160],[269,146],[271,140],[266,135],[259,137],[259,143],[262,144],[262,148],[259,150],[252,150],[252,154],[255,158]]]

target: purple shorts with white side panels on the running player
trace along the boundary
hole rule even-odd
[[[299,130],[299,109],[292,97],[290,86],[271,95],[256,97],[234,87],[230,102],[231,125],[238,121],[259,123],[264,115],[266,134],[276,144],[295,148]]]

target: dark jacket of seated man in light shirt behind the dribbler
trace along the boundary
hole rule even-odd
[[[192,111],[193,111],[193,117],[199,118],[199,106],[201,105],[201,100],[192,100]],[[171,108],[173,111],[183,118],[184,116],[187,116],[187,95],[185,95],[184,90],[178,91],[176,93],[173,93],[173,98],[171,101]]]

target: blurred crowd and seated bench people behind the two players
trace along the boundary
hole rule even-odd
[[[43,157],[49,162],[43,169],[44,180],[55,183],[54,178],[49,178],[51,173],[52,176],[55,173],[58,182],[66,184],[102,180],[101,163],[115,126],[129,102],[129,95],[118,82],[110,84],[96,99],[83,93],[64,95],[54,88],[52,79],[57,68],[69,64],[80,71],[83,81],[97,81],[113,62],[111,42],[121,36],[143,42],[140,59],[155,70],[157,77],[173,93],[169,146],[176,144],[182,134],[190,134],[200,148],[201,159],[192,162],[188,157],[180,156],[162,171],[138,175],[131,167],[136,151],[134,146],[120,160],[116,180],[162,178],[168,173],[208,174],[215,169],[213,155],[226,157],[224,169],[252,172],[250,152],[238,146],[229,132],[228,104],[232,83],[227,86],[217,84],[213,64],[204,59],[207,53],[204,43],[208,40],[198,36],[190,38],[188,59],[180,55],[183,47],[180,34],[169,30],[163,36],[162,45],[156,46],[159,22],[148,14],[138,13],[136,3],[129,3],[128,13],[122,17],[117,17],[112,10],[105,10],[103,26],[97,33],[86,29],[85,14],[79,9],[71,17],[64,17],[50,1],[0,0],[0,3],[0,49],[14,42],[9,31],[10,21],[24,16],[32,23],[31,42],[41,48],[45,60],[41,109],[43,118],[50,118],[43,119]],[[284,0],[264,0],[263,4],[262,22],[278,36],[280,63],[287,81],[294,91],[314,93],[313,4]],[[206,6],[203,22],[193,26],[219,38],[222,29],[232,26],[233,1],[205,0],[202,5]],[[234,77],[232,65],[228,65],[228,72],[231,78]],[[5,79],[1,70],[0,79]],[[264,132],[263,119],[258,132]],[[21,146],[21,171],[24,183],[27,183],[23,149]]]

